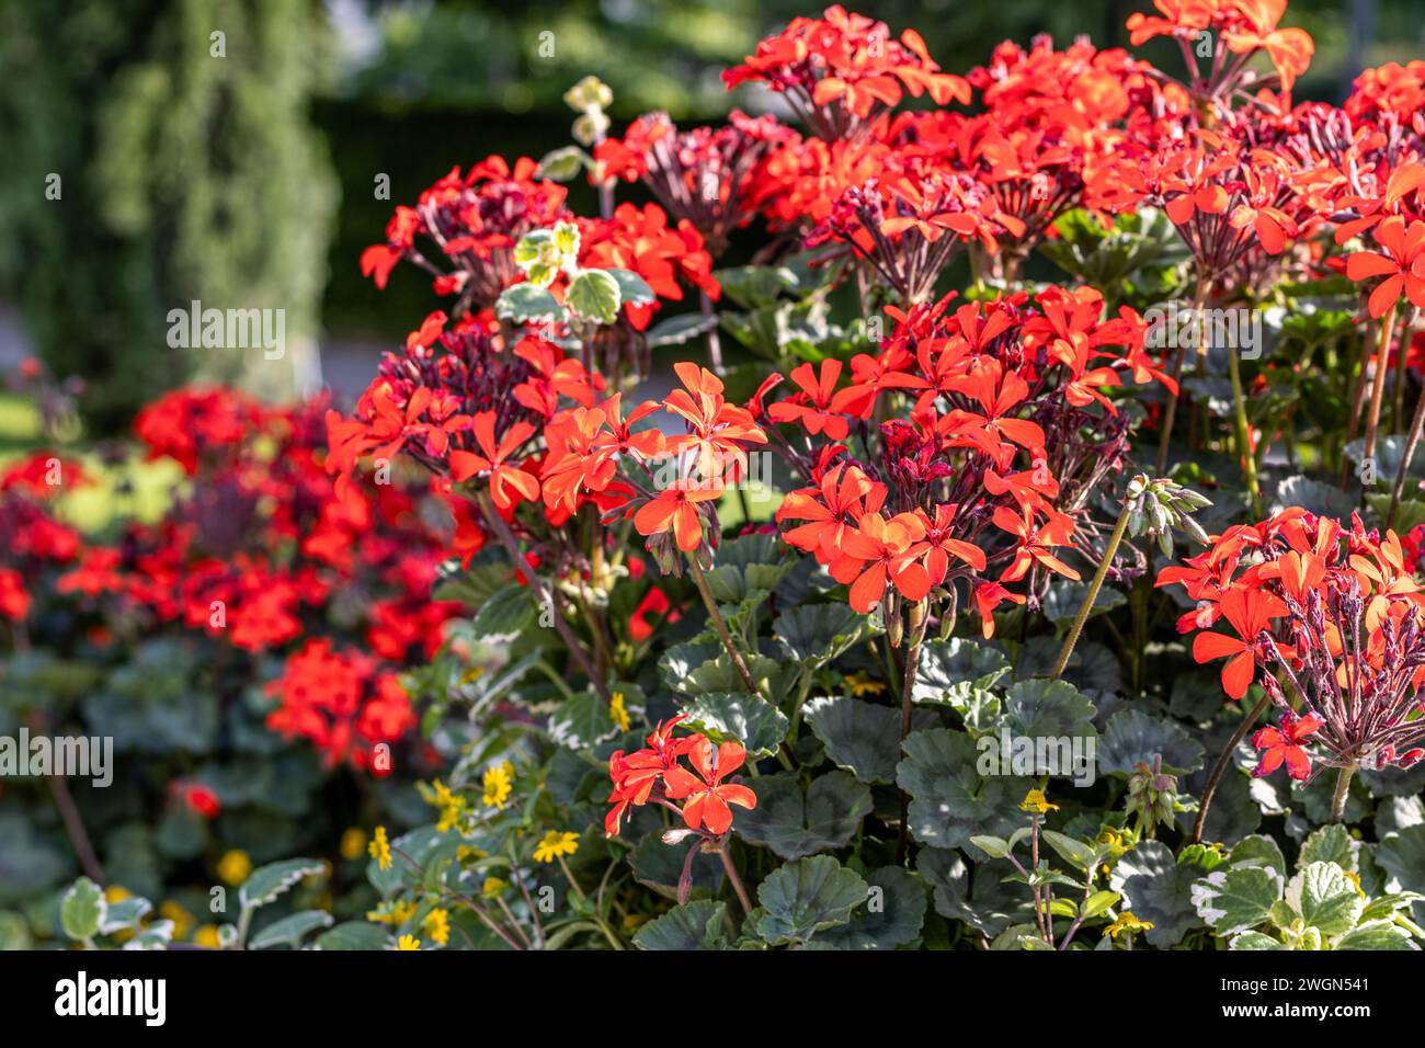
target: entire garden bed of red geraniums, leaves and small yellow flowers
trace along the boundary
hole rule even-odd
[[[1282,17],[581,81],[355,405],[160,396],[98,530],[9,462],[0,734],[115,760],[4,780],[0,945],[1418,950],[1425,61]]]

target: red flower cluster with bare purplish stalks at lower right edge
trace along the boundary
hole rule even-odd
[[[1241,699],[1257,679],[1282,711],[1280,727],[1254,736],[1258,774],[1285,763],[1305,779],[1308,737],[1331,767],[1409,767],[1425,756],[1425,593],[1395,532],[1292,508],[1227,529],[1157,585],[1181,585],[1197,602],[1178,630],[1201,630],[1197,662],[1227,659],[1227,694]],[[1235,636],[1207,632],[1220,617]]]

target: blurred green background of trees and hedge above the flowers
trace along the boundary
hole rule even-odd
[[[430,308],[415,267],[385,294],[358,271],[395,204],[456,163],[537,158],[567,143],[561,94],[589,73],[614,88],[620,121],[653,108],[677,120],[762,108],[764,98],[727,94],[718,74],[814,6],[3,0],[0,302],[20,308],[23,339],[61,375],[86,379],[100,428],[195,371],[269,394],[302,388],[315,374],[304,337],[321,335],[323,362],[333,346],[373,356]],[[1124,20],[1149,6],[876,0],[859,10],[895,31],[913,26],[945,68],[963,73],[999,41],[1036,33],[1123,44]],[[1287,23],[1317,41],[1298,97],[1340,100],[1362,66],[1425,54],[1422,7],[1291,0]],[[215,30],[222,60],[211,54]],[[1176,70],[1171,46],[1157,44],[1141,54]],[[44,197],[50,173],[63,175],[61,201]],[[574,204],[590,207],[577,192]],[[167,314],[194,298],[284,307],[284,366],[244,374],[231,356],[170,349]]]

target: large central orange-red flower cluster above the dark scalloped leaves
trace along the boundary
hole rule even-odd
[[[1026,602],[1006,583],[1033,572],[1042,595],[1050,573],[1077,579],[1056,550],[1074,540],[1089,492],[1126,451],[1102,388],[1166,381],[1143,351],[1141,318],[1102,312],[1087,288],[958,309],[946,298],[893,309],[896,331],[879,354],[852,359],[849,385],[836,388],[838,361],[794,371],[798,391],[765,408],[802,431],[774,446],[811,479],[777,512],[802,522],[787,540],[849,585],[861,612],[888,586],[916,603],[965,579],[986,636],[999,603]],[[872,429],[898,398],[908,418]],[[841,443],[852,426],[859,459]],[[992,563],[1000,569],[989,577]]]

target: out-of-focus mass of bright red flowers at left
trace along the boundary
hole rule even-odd
[[[333,490],[326,409],[325,399],[268,408],[222,388],[154,401],[135,422],[147,458],[178,462],[191,485],[161,520],[125,522],[108,543],[50,512],[50,499],[83,482],[77,466],[47,452],[16,463],[0,476],[0,615],[26,619],[36,599],[66,602],[95,636],[180,629],[278,659],[339,619],[375,654],[321,662],[308,644],[308,659],[272,692],[269,723],[309,739],[329,761],[366,766],[363,744],[395,741],[415,724],[395,670],[432,656],[460,606],[429,599],[450,538],[422,509],[445,499],[399,475]],[[361,686],[319,696],[315,716],[304,709],[311,689],[288,684],[336,663]]]

